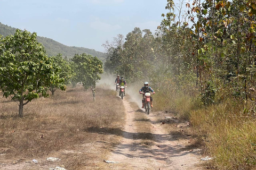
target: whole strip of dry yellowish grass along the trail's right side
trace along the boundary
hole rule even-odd
[[[175,122],[166,122],[165,128],[179,141],[191,134],[196,140],[191,138],[187,147],[201,147],[205,156],[214,158],[207,168],[256,169],[256,118],[246,115],[241,103],[229,100],[202,107],[186,95],[161,92],[154,100],[154,109],[171,111],[179,122],[191,121],[193,129],[185,128],[186,124],[177,128]]]

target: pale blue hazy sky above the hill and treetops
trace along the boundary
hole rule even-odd
[[[0,0],[0,22],[37,32],[67,46],[104,52],[101,46],[134,27],[153,33],[166,0]]]

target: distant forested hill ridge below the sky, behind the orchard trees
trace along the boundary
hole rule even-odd
[[[4,25],[0,22],[0,35],[6,37],[8,35],[14,35],[16,28],[12,28],[8,25]],[[33,31],[31,31],[33,32]],[[75,54],[90,54],[92,56],[97,56],[100,60],[105,60],[105,53],[97,52],[94,49],[84,48],[84,47],[69,47],[63,45],[53,39],[37,36],[37,40],[39,43],[42,43],[45,47],[46,54],[48,56],[55,56],[59,53],[62,54],[63,57],[72,58]]]

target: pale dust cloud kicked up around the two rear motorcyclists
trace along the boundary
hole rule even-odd
[[[97,83],[98,87],[104,88],[104,89],[116,89],[116,75],[115,74],[102,74],[101,75],[101,80]],[[131,98],[131,102],[136,103],[139,108],[141,108],[141,100],[142,100],[142,95],[139,94],[139,90],[143,86],[143,82],[141,84],[137,83],[132,83],[130,84],[127,82],[127,87],[125,88],[125,94],[129,95]]]

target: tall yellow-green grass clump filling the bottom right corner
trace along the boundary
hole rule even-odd
[[[242,108],[226,100],[191,112],[191,123],[217,169],[256,169],[256,119]]]

